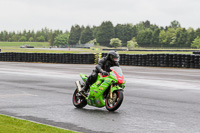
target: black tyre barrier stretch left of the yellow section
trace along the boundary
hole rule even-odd
[[[94,54],[0,53],[0,61],[94,64]]]

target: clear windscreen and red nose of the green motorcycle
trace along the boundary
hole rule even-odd
[[[122,69],[120,67],[111,67],[110,70],[112,70],[118,80],[118,84],[122,84],[124,82],[124,74],[122,73]]]

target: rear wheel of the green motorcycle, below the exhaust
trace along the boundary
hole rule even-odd
[[[78,89],[74,91],[72,102],[77,108],[83,108],[87,105],[87,101],[80,93],[78,93]]]

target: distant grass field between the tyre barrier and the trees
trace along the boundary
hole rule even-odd
[[[34,46],[34,48],[20,48],[22,45],[30,45]],[[41,49],[38,49],[41,48]],[[97,48],[105,48],[105,47],[97,47]],[[92,49],[73,49],[70,51],[65,49],[50,49],[48,42],[0,42],[1,52],[31,52],[31,53],[107,53],[108,51],[101,50],[92,50]],[[137,48],[137,49],[147,49],[147,48]],[[149,49],[149,48],[148,48]],[[152,48],[155,49],[155,48]],[[156,48],[159,49],[159,48]],[[161,50],[166,50],[160,48]],[[173,50],[173,49],[169,49]],[[176,49],[177,50],[177,49]],[[183,49],[182,49],[183,50]],[[184,49],[187,50],[187,49]],[[188,49],[192,50],[192,49]],[[197,49],[194,49],[197,50]],[[120,54],[192,54],[192,52],[148,52],[148,51],[119,51]]]

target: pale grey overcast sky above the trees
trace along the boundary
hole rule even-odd
[[[70,30],[103,21],[137,24],[149,20],[168,26],[200,27],[200,0],[0,0],[0,31]]]

